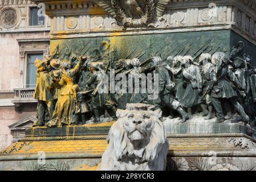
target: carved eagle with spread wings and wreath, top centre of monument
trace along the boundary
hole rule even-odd
[[[142,27],[156,23],[170,0],[96,0],[120,26]]]

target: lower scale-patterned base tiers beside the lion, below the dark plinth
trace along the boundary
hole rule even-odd
[[[106,136],[105,136],[106,137]],[[254,170],[255,142],[245,137],[183,135],[168,137],[170,146],[166,169]],[[96,170],[107,148],[105,139],[17,142],[0,154],[0,170]],[[39,164],[38,158],[46,159]]]

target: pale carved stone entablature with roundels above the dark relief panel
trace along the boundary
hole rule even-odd
[[[111,12],[108,7],[101,6],[104,10],[96,5],[96,1],[32,1],[46,5],[46,14],[51,17],[50,39],[111,36],[113,32],[130,35],[156,31],[233,30],[256,44],[256,0],[170,0],[165,5],[162,19],[155,24],[151,23],[149,27],[128,27],[125,30],[113,14],[107,13]],[[216,9],[210,6],[211,3],[216,5]]]

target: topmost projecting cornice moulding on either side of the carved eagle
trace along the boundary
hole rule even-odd
[[[1,0],[0,0],[1,1]],[[22,1],[22,0],[21,0]],[[44,3],[46,6],[46,14],[50,17],[61,15],[79,15],[79,14],[107,14],[104,9],[99,7],[95,1],[92,0],[31,0],[32,2]],[[194,6],[206,7],[210,3],[215,3],[217,6],[227,5],[236,6],[237,8],[249,14],[256,19],[256,0],[170,0],[165,9],[181,9]],[[74,11],[75,10],[75,11]]]

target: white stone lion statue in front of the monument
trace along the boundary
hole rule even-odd
[[[108,133],[100,171],[163,171],[169,143],[159,118],[161,109],[146,104],[127,104]]]

